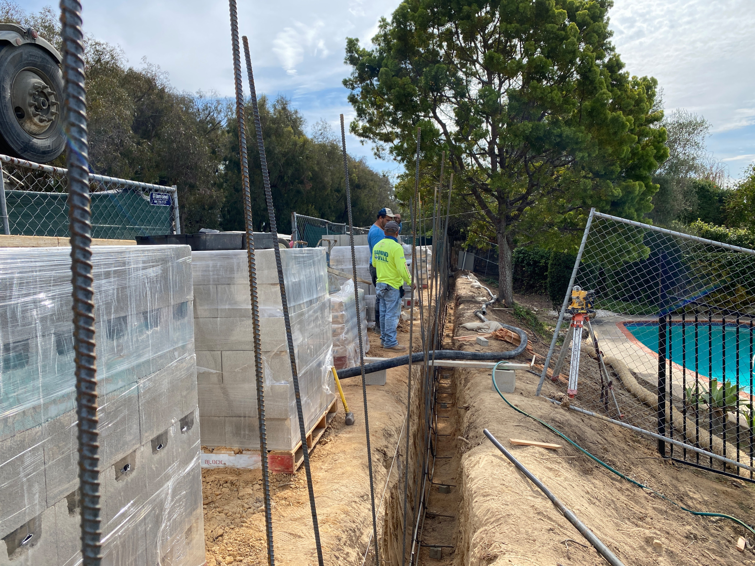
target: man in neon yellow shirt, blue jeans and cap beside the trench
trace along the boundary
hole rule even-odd
[[[377,271],[375,295],[380,301],[381,345],[387,350],[403,352],[406,346],[399,346],[396,327],[401,315],[401,294],[399,288],[404,281],[411,285],[411,275],[406,269],[404,248],[399,244],[399,225],[390,221],[384,226],[385,238],[372,248],[372,265]],[[412,290],[414,285],[411,286]]]

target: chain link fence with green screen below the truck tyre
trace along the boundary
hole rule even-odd
[[[66,169],[0,155],[6,235],[67,236]],[[180,234],[177,189],[90,174],[92,238]]]

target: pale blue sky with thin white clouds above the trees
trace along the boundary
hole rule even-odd
[[[23,0],[26,11],[54,4]],[[168,72],[182,91],[233,96],[227,2],[216,0],[85,0],[85,32],[120,45],[128,62]],[[239,31],[248,35],[257,94],[290,98],[311,126],[319,119],[340,130],[339,114],[354,117],[341,81],[347,37],[368,45],[381,17],[399,0],[239,1]],[[667,112],[683,108],[711,125],[707,149],[729,174],[741,177],[755,161],[755,9],[753,0],[615,0],[614,43],[632,75],[652,75]],[[245,90],[247,85],[245,85]],[[347,137],[352,155],[377,171],[369,144]]]

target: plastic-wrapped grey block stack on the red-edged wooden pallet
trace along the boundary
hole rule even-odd
[[[259,449],[246,252],[197,251],[192,257],[202,444]],[[281,250],[281,258],[309,431],[335,398],[325,248]],[[257,250],[255,265],[267,448],[291,451],[300,432],[274,251]]]

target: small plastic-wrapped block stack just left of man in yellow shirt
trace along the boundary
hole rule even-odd
[[[354,281],[341,285],[341,291],[331,293],[331,320],[333,323],[333,365],[337,370],[359,365],[359,333],[356,327],[356,302]],[[362,323],[362,347],[365,354],[370,349],[367,337],[367,303],[359,289],[359,314]]]

